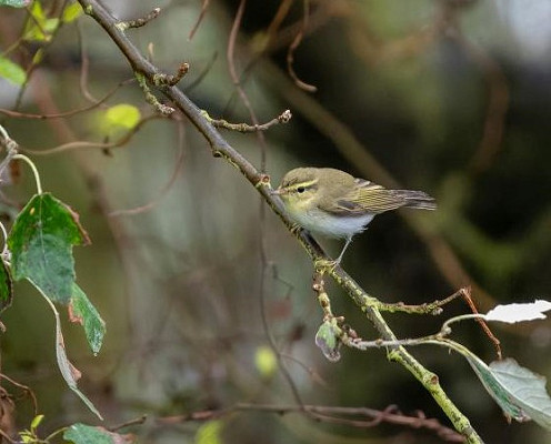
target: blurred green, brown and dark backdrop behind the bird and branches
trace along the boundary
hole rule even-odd
[[[52,11],[60,3],[43,2]],[[180,85],[213,118],[251,121],[228,61],[240,2],[211,1],[192,39],[199,0],[106,3],[119,18],[160,7],[158,19],[128,31],[136,44],[168,72],[187,61],[190,72]],[[2,50],[17,41],[26,19],[24,11],[0,8]],[[301,29],[293,70],[315,92],[299,88],[287,68]],[[78,109],[90,104],[81,83],[100,98],[132,77],[113,42],[86,17],[50,43],[22,44],[10,57],[26,65],[39,48],[46,56],[23,94],[23,112]],[[83,82],[81,48],[89,62]],[[285,109],[293,113],[288,124],[266,132],[264,142],[223,133],[254,164],[264,164],[272,184],[298,165],[334,167],[438,200],[434,213],[384,214],[354,240],[344,268],[368,292],[387,302],[421,303],[471,285],[482,311],[550,297],[549,1],[248,1],[232,64],[260,122]],[[0,107],[11,109],[17,95],[18,88],[0,80]],[[153,113],[136,83],[107,102],[117,103]],[[281,372],[259,365],[268,332],[304,403],[395,404],[448,424],[383,351],[343,350],[338,363],[323,357],[313,341],[322,312],[305,253],[184,119],[151,119],[112,149],[47,151],[122,137],[104,130],[102,107],[68,119],[4,117],[2,124],[37,162],[43,188],[79,212],[92,239],[74,251],[77,273],[107,322],[106,343],[94,357],[80,329],[67,322],[64,334],[83,373],[80,384],[110,425],[147,414],[146,424],[132,430],[141,442],[191,443],[201,422],[169,426],[157,420],[237,402],[294,403]],[[21,167],[13,183],[2,184],[6,219],[33,192],[32,175]],[[338,242],[320,241],[338,253]],[[351,301],[335,286],[329,290],[333,311],[363,337],[374,337]],[[439,317],[387,317],[399,336],[415,337],[468,311],[457,301]],[[2,373],[32,387],[46,414],[44,433],[76,421],[94,423],[59,375],[53,319],[30,285],[16,286],[2,322]],[[495,326],[494,333],[504,355],[551,374],[549,321]],[[495,359],[477,324],[458,325],[453,337],[485,362]],[[411,351],[439,374],[485,442],[550,441],[533,423],[508,424],[460,356],[428,346]],[[30,401],[19,400],[18,426],[31,417]],[[241,412],[222,424],[224,443],[443,442],[427,431],[357,430],[295,414]]]

